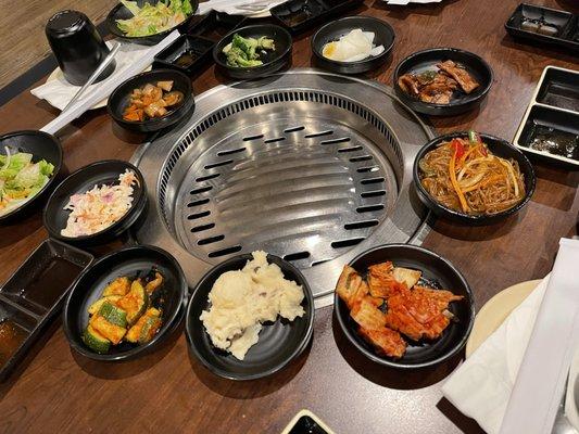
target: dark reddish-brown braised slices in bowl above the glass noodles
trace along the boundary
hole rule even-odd
[[[461,89],[468,94],[480,86],[453,61],[444,61],[437,67],[439,71],[404,74],[398,79],[398,85],[410,95],[432,104],[449,104],[455,90]]]

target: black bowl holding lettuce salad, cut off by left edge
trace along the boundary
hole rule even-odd
[[[40,204],[54,186],[54,180],[62,167],[61,143],[59,139],[47,132],[34,130],[9,132],[0,136],[0,154],[5,155],[5,146],[9,148],[11,153],[26,152],[33,154],[33,163],[46,159],[54,166],[54,171],[47,184],[33,199],[0,217],[0,224],[15,221],[15,219],[22,218]]]

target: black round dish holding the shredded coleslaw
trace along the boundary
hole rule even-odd
[[[85,237],[63,237],[61,230],[66,227],[66,220],[71,212],[64,210],[73,194],[80,194],[91,190],[95,186],[115,183],[118,175],[126,169],[135,171],[139,181],[134,186],[133,204],[129,210],[109,228]],[[102,244],[118,237],[126,231],[137,219],[147,205],[147,189],[144,179],[137,167],[118,159],[105,159],[85,166],[62,181],[49,197],[42,215],[45,228],[50,237],[75,245]]]

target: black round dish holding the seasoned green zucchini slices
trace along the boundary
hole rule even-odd
[[[153,340],[144,345],[122,343],[109,354],[97,354],[83,342],[88,324],[88,307],[100,298],[104,286],[122,276],[147,273],[152,267],[163,275],[163,285],[153,294],[152,305],[162,311],[163,324]],[[167,252],[154,246],[136,246],[113,252],[97,260],[76,280],[64,304],[62,323],[72,348],[95,360],[129,360],[150,353],[172,330],[185,311],[187,282],[181,267]]]

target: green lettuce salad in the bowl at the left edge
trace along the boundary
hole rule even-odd
[[[33,154],[0,155],[0,217],[35,196],[48,182],[54,166],[46,159],[33,163]]]

